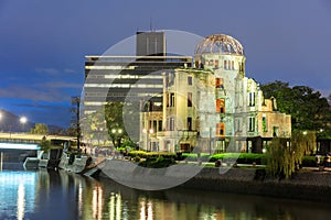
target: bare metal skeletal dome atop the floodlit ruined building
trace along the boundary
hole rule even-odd
[[[244,48],[237,40],[229,35],[213,34],[197,43],[194,54],[228,54],[244,56]]]

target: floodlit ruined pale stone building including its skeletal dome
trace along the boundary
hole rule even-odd
[[[245,55],[232,36],[205,37],[194,67],[163,73],[162,111],[141,113],[140,143],[147,151],[263,152],[274,136],[290,138],[290,116],[265,99],[245,76]]]

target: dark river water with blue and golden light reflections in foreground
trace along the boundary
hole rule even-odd
[[[192,189],[142,191],[66,172],[0,172],[0,219],[331,219],[331,206]]]

